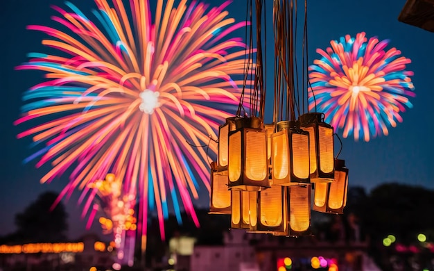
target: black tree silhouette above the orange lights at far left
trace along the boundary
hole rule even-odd
[[[60,202],[52,208],[57,197],[58,194],[55,192],[44,192],[23,213],[15,215],[16,241],[41,243],[66,240],[68,215],[65,207]]]

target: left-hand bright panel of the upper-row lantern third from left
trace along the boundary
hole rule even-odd
[[[284,132],[272,137],[272,174],[275,179],[285,179],[289,174],[288,136]]]

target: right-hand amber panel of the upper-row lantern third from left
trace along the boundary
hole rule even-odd
[[[299,133],[293,133],[292,136],[294,175],[300,179],[309,178],[309,136]]]

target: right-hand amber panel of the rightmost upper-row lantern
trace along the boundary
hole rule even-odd
[[[335,163],[333,129],[319,126],[318,133],[320,136],[320,170],[324,173],[331,173]]]

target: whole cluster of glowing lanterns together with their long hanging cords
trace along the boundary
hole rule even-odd
[[[273,123],[263,124],[266,62],[261,19],[257,19],[256,65],[247,66],[254,67],[250,112],[259,116],[241,116],[238,108],[236,116],[227,118],[218,131],[218,157],[211,163],[210,213],[231,215],[232,229],[306,236],[311,234],[311,210],[342,213],[346,205],[348,169],[345,161],[335,158],[333,127],[324,122],[324,114],[304,113],[304,103],[296,101],[301,95],[295,91],[294,18],[288,13],[293,1],[290,6],[283,0],[273,1]],[[262,18],[264,4],[265,0],[256,1],[257,18]],[[251,12],[251,2],[248,8]]]

